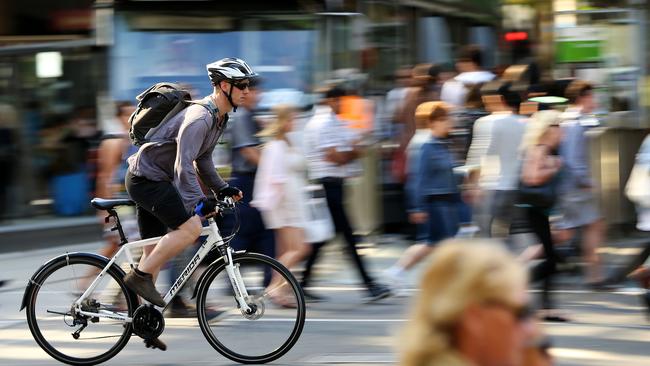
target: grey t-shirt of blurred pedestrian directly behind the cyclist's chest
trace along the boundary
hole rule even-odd
[[[255,173],[257,170],[255,164],[244,158],[241,149],[259,146],[260,139],[255,136],[259,131],[260,127],[249,110],[242,108],[237,111],[237,120],[230,125],[233,173]]]

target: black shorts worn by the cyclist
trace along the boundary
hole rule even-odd
[[[192,217],[171,182],[156,182],[129,172],[126,191],[136,203],[142,239],[165,235],[167,229],[176,230]]]

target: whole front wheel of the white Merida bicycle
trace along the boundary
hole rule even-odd
[[[296,278],[275,259],[235,253],[252,312],[239,308],[226,271],[217,262],[199,281],[197,310],[206,339],[219,353],[240,363],[266,363],[296,343],[305,324],[305,299]],[[265,284],[265,273],[271,283]]]

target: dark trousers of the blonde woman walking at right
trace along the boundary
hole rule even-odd
[[[548,212],[545,209],[529,207],[528,220],[531,229],[544,246],[544,260],[532,269],[531,281],[542,281],[542,309],[552,309],[551,289],[553,276],[557,271],[557,253],[553,247],[551,225],[548,221]]]

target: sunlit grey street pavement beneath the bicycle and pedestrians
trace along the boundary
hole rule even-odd
[[[375,274],[390,266],[408,245],[398,236],[367,238],[363,254]],[[0,365],[56,365],[33,340],[19,311],[24,286],[31,274],[47,259],[69,251],[95,252],[101,242],[76,244],[0,254],[0,279],[11,282],[0,289]],[[613,243],[601,249],[605,261],[620,264],[638,252],[640,244]],[[408,319],[410,302],[417,296],[418,275],[423,265],[409,273],[406,297],[394,297],[363,304],[364,291],[342,248],[326,247],[318,264],[314,290],[329,301],[309,304],[302,336],[294,348],[275,365],[396,365],[399,330]],[[613,267],[613,266],[610,266]],[[166,278],[163,274],[160,278]],[[593,292],[581,278],[562,275],[556,297],[560,308],[573,321],[545,323],[552,338],[551,353],[557,365],[612,366],[650,365],[650,322],[639,302],[638,288],[632,283],[613,292]],[[163,284],[164,286],[164,284]],[[536,293],[535,290],[531,290]],[[251,337],[255,335],[252,334]],[[131,338],[127,347],[107,365],[232,365],[205,341],[194,319],[166,319],[161,336],[165,352],[146,349]]]

